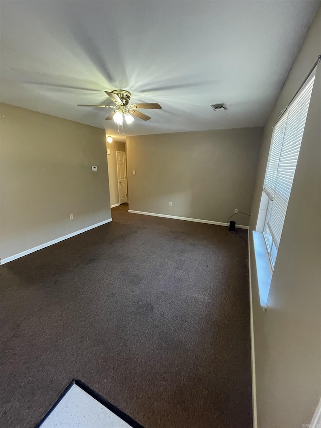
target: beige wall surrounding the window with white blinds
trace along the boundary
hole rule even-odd
[[[319,10],[265,128],[251,230],[256,225],[272,126],[320,53]],[[301,428],[309,424],[321,396],[320,105],[321,65],[314,83],[266,313],[259,304],[253,241],[250,241],[259,428]]]

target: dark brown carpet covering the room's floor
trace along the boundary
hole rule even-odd
[[[127,210],[0,268],[3,428],[73,378],[145,428],[252,426],[246,243]]]

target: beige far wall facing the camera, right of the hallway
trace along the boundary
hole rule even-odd
[[[129,209],[218,222],[250,213],[261,139],[262,128],[127,137]]]

